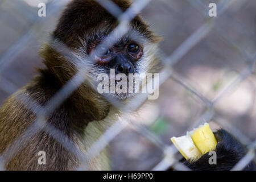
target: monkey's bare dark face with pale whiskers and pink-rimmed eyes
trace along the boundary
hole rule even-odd
[[[156,45],[134,29],[105,46],[108,41],[108,35],[90,36],[86,42],[92,63],[88,71],[98,92],[123,100],[139,93],[142,79],[158,64]]]

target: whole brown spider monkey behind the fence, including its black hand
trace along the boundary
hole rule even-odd
[[[123,11],[131,5],[128,0],[114,2]],[[101,42],[117,26],[117,18],[95,1],[73,0],[67,5],[51,35],[52,41],[40,50],[46,68],[38,69],[38,76],[10,96],[1,107],[0,155],[5,162],[5,169],[74,170],[80,166],[77,156],[43,129],[30,138],[20,137],[34,123],[34,109],[38,105],[46,106],[79,68],[85,67],[86,81],[77,85],[77,89],[64,102],[46,115],[46,122],[85,152],[122,114],[90,84],[97,84],[97,75],[109,74],[110,69],[125,75],[159,71],[161,63],[157,59],[156,48],[160,38],[150,30],[140,15],[131,20],[129,31],[112,47],[101,46]],[[80,59],[73,59],[67,51],[61,52],[60,45],[65,45]],[[96,47],[100,47],[101,51],[98,52]],[[93,55],[93,60],[88,55]],[[125,103],[134,95],[114,93],[112,97]],[[195,163],[185,164],[200,170],[230,169],[236,164],[242,158],[243,147],[224,130],[218,131],[218,136],[217,166],[208,166],[208,159],[204,156]],[[9,148],[17,139],[24,144],[10,158]],[[39,151],[46,152],[45,165],[38,163]],[[103,150],[88,161],[87,167],[92,170],[109,169],[108,160],[107,151]],[[246,169],[252,169],[251,167],[252,164]]]

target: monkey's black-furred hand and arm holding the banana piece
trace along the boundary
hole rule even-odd
[[[245,155],[245,147],[242,146],[232,135],[227,131],[221,129],[214,133],[218,144],[216,149],[217,164],[209,164],[209,158],[212,155],[204,154],[196,162],[189,163],[185,161],[184,164],[192,170],[230,170],[236,163],[238,163]],[[256,170],[253,162],[249,163],[243,170]]]

